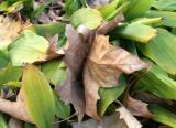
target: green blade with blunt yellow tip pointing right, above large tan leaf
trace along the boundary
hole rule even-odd
[[[132,23],[125,26],[120,26],[113,31],[124,39],[132,41],[148,43],[156,36],[157,31],[148,25]]]

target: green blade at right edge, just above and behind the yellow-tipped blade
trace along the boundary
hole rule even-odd
[[[162,18],[163,25],[176,28],[176,12],[150,10],[146,12],[145,17]]]

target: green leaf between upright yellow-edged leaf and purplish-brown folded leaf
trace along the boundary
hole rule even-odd
[[[66,79],[66,67],[62,60],[54,60],[42,64],[42,72],[53,85],[61,85]]]

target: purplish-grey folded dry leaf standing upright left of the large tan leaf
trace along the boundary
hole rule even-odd
[[[61,98],[66,104],[73,104],[79,120],[85,114],[85,95],[82,88],[82,68],[94,40],[94,32],[80,29],[78,33],[72,25],[66,26],[67,50],[65,50],[65,62],[68,67],[67,79],[57,89]]]

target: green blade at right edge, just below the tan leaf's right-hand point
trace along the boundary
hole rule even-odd
[[[176,82],[158,66],[153,65],[150,71],[144,74],[138,74],[138,83],[134,86],[136,92],[151,92],[152,94],[166,98],[176,99]]]

